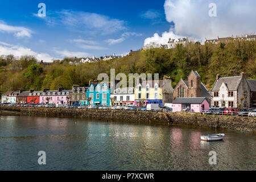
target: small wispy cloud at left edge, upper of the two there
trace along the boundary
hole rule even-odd
[[[0,20],[0,31],[12,33],[17,38],[24,38],[24,37],[30,38],[31,34],[33,33],[33,31],[28,28],[10,26],[1,20]]]

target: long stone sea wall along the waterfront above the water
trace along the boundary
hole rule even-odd
[[[76,117],[116,119],[131,122],[160,123],[164,125],[193,125],[214,129],[231,129],[256,132],[256,119],[238,116],[217,116],[186,113],[164,113],[155,111],[135,110],[94,110],[94,109],[63,109],[44,107],[11,107],[0,106],[3,111],[15,111],[23,114],[35,114],[51,117]],[[1,114],[1,112],[0,112]]]

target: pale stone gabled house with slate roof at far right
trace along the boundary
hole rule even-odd
[[[256,80],[246,79],[243,72],[233,77],[217,75],[211,92],[214,106],[238,107],[241,104],[241,109],[256,107]]]

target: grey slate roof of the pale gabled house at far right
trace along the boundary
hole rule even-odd
[[[223,82],[228,87],[228,90],[236,90],[238,88],[238,85],[240,84],[240,81],[240,76],[218,78],[218,80],[214,82],[212,91],[218,91]]]

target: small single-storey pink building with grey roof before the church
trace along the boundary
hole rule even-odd
[[[210,109],[210,104],[206,97],[178,97],[172,104],[173,112],[192,111],[201,113]]]

